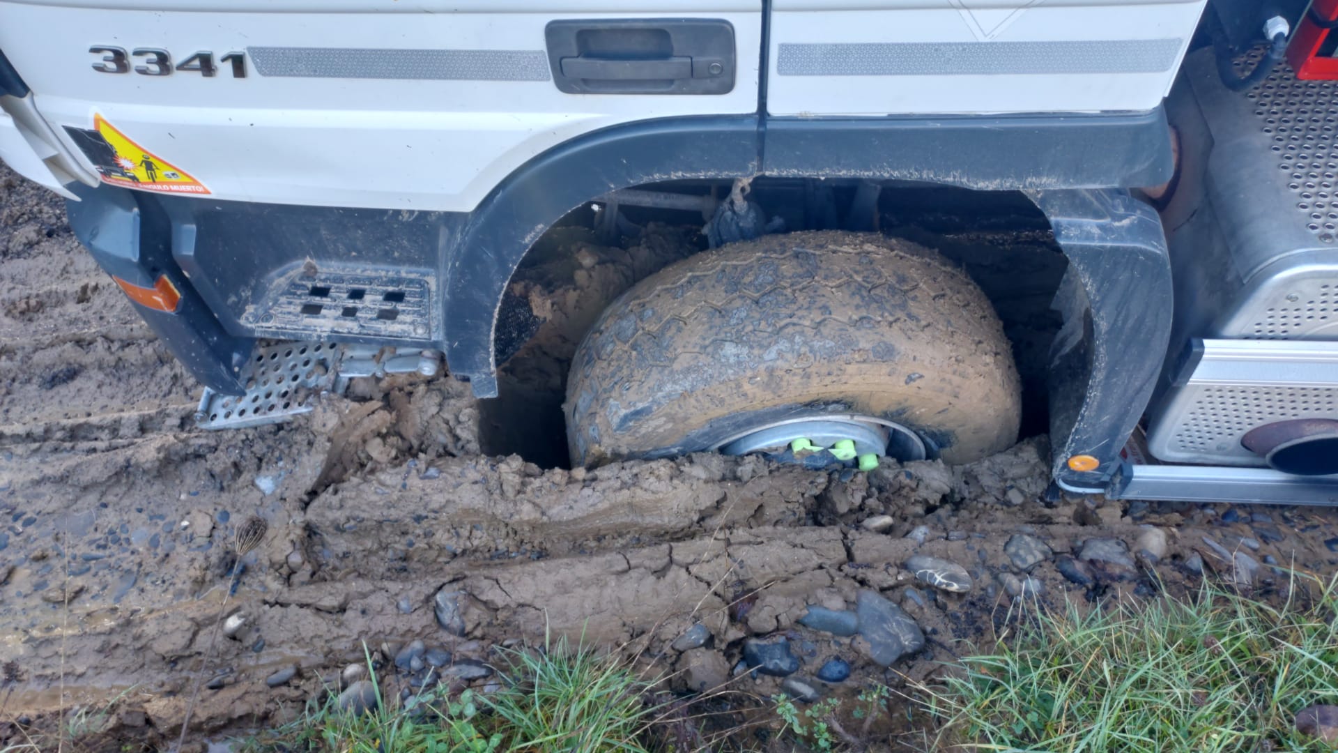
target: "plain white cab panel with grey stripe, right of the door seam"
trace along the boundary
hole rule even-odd
[[[1204,0],[772,0],[771,115],[1147,111]]]

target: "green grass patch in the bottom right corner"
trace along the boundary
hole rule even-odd
[[[1042,612],[922,701],[943,746],[1331,752],[1293,724],[1338,703],[1338,576],[1294,577],[1309,595],[1278,607],[1204,586],[1187,602]]]

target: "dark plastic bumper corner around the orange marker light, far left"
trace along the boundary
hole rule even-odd
[[[71,190],[86,200],[94,194],[82,185]],[[154,288],[166,279],[179,293],[173,311],[139,303],[135,308],[191,376],[217,393],[244,394],[241,367],[256,340],[227,334],[191,287],[173,260],[173,233],[161,209],[142,206],[128,190],[107,189],[95,201],[70,201],[66,209],[79,243],[104,272],[138,288]]]

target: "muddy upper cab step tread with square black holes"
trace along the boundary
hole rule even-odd
[[[304,269],[274,285],[242,323],[270,338],[427,340],[434,335],[436,297],[436,276],[429,271]]]

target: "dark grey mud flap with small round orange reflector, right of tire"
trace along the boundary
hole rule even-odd
[[[1165,234],[1156,210],[1125,190],[1028,196],[1069,259],[1049,367],[1052,473],[1064,489],[1101,493],[1152,398],[1171,339]],[[1078,456],[1090,457],[1070,465]]]

